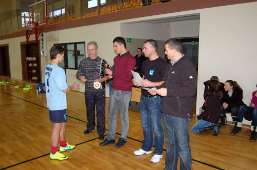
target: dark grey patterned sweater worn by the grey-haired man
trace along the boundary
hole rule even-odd
[[[85,76],[87,81],[85,82],[85,90],[90,91],[105,91],[105,81],[101,82],[101,88],[95,89],[93,82],[95,79],[104,77],[103,65],[107,63],[104,59],[97,56],[96,59],[90,59],[89,57],[84,58],[80,61],[78,72],[76,74],[77,79],[80,76]]]

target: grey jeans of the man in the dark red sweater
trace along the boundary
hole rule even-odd
[[[108,139],[115,140],[115,134],[117,132],[117,115],[120,109],[121,120],[121,136],[120,138],[127,139],[127,131],[129,126],[128,120],[128,107],[130,105],[132,91],[121,91],[112,89],[111,96],[109,98],[109,132]]]

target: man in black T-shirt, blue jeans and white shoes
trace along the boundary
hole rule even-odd
[[[162,84],[164,71],[168,65],[168,62],[160,58],[157,54],[157,42],[153,39],[146,40],[144,42],[144,54],[149,59],[146,59],[142,65],[143,80],[141,86],[143,87],[155,87]],[[135,85],[138,82],[133,79]],[[135,151],[135,155],[151,154],[153,143],[155,146],[154,156],[151,162],[157,163],[162,158],[164,134],[162,128],[162,113],[161,102],[162,97],[155,95],[152,96],[147,90],[142,89],[142,95],[140,97],[140,117],[143,126],[144,140],[139,150]],[[154,131],[154,137],[153,137]]]

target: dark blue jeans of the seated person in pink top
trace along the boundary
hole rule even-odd
[[[240,110],[237,114],[237,121],[242,122],[244,119],[245,114],[251,115],[252,116],[252,126],[257,126],[257,109],[254,109],[252,107],[248,107],[246,105],[242,105],[240,107]]]

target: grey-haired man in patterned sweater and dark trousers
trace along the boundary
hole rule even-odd
[[[81,82],[85,82],[87,129],[84,134],[95,131],[96,106],[97,133],[99,139],[103,140],[105,133],[105,81],[107,80],[104,76],[104,64],[107,62],[97,56],[97,53],[97,43],[95,41],[88,42],[87,54],[89,57],[81,60],[76,77]]]

